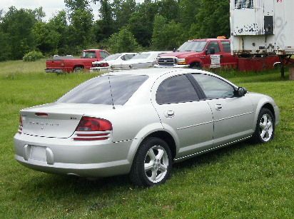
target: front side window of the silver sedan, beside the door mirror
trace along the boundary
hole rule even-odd
[[[206,74],[193,74],[206,98],[231,98],[235,96],[235,89],[229,83]]]

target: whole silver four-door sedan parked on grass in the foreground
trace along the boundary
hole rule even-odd
[[[269,96],[168,68],[104,74],[20,114],[19,163],[89,178],[129,174],[142,186],[164,183],[173,162],[248,138],[266,143],[279,122]]]

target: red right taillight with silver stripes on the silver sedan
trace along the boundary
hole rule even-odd
[[[83,116],[76,127],[74,140],[76,141],[101,141],[109,138],[112,131],[110,121],[103,118]]]

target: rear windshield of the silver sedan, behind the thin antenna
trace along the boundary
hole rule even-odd
[[[108,79],[109,77],[109,79]],[[122,75],[93,78],[59,98],[57,103],[125,104],[148,76]]]

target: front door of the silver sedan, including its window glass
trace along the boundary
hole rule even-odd
[[[235,96],[230,83],[216,76],[193,74],[213,112],[213,145],[239,140],[253,133],[253,104],[248,96]]]

